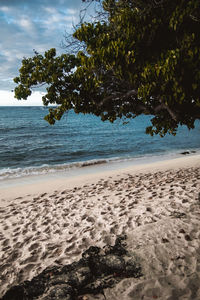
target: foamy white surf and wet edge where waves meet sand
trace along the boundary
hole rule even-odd
[[[171,160],[174,158],[183,157],[183,155],[191,156],[200,154],[200,148],[196,149],[182,149],[167,151],[167,152],[158,152],[155,154],[146,153],[144,155],[136,155],[136,156],[121,156],[121,157],[104,157],[104,158],[93,158],[88,160],[81,161],[72,161],[69,163],[61,163],[61,164],[42,164],[40,166],[27,166],[27,167],[16,167],[16,168],[2,168],[0,170],[0,188],[2,183],[9,182],[11,180],[17,179],[26,179],[26,178],[34,178],[36,176],[54,176],[54,174],[69,174],[73,175],[73,173],[80,172],[81,170],[87,167],[99,167],[103,166],[106,169],[110,168],[123,168],[129,165],[140,165],[149,162],[157,162],[163,160]],[[116,167],[117,166],[117,167]]]

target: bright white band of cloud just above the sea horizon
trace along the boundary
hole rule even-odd
[[[42,92],[33,92],[27,100],[17,100],[14,93],[0,90],[0,106],[42,106]]]

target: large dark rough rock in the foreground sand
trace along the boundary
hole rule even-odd
[[[114,246],[90,247],[78,262],[45,269],[31,281],[9,289],[1,300],[75,300],[86,293],[96,294],[127,277],[142,276],[133,253],[125,249],[126,236]]]

